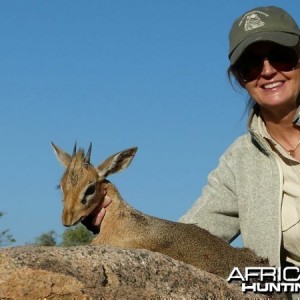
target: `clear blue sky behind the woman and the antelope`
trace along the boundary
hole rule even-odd
[[[231,24],[272,4],[300,23],[295,0],[1,0],[0,231],[16,245],[63,232],[50,141],[93,142],[95,164],[138,146],[110,180],[135,208],[177,220],[246,130],[247,95],[226,77]]]

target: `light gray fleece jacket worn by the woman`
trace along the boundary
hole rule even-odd
[[[252,113],[249,133],[222,155],[202,196],[179,221],[196,223],[227,242],[241,233],[245,247],[280,266],[283,175],[257,123]]]

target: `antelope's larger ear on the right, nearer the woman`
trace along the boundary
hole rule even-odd
[[[125,170],[133,160],[137,149],[137,147],[129,148],[110,156],[96,168],[99,176],[107,177],[108,175]]]

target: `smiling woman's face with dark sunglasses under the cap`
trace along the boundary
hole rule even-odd
[[[257,42],[245,50],[239,65],[247,78],[244,87],[260,107],[267,110],[297,107],[300,68],[294,49]]]

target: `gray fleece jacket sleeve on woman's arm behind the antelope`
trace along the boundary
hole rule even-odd
[[[196,224],[227,242],[235,239],[240,229],[234,166],[233,156],[228,151],[208,176],[201,197],[180,222]]]

